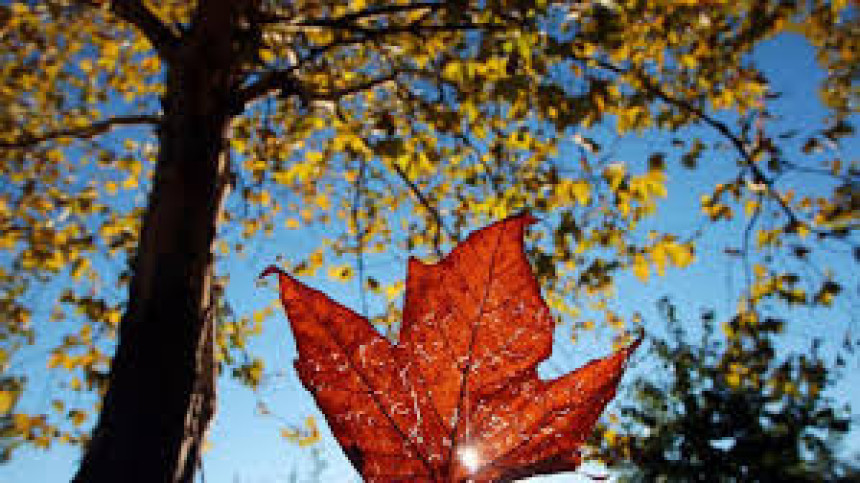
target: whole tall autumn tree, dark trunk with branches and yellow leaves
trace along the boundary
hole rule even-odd
[[[555,316],[588,327],[591,304],[622,327],[618,276],[718,255],[708,230],[656,223],[668,174],[711,169],[697,210],[734,233],[738,317],[832,304],[846,280],[818,254],[858,256],[857,160],[839,149],[856,19],[822,0],[4,2],[4,455],[92,441],[84,468],[188,481],[216,374],[254,385],[263,370],[244,351],[268,312],[223,317],[215,261],[284,229],[331,235],[285,270],[358,278],[396,307],[401,287],[363,276],[365,257],[439,254],[527,208],[551,227],[530,257]],[[821,117],[778,119],[756,63],[789,35],[824,72],[808,93]],[[649,133],[675,137],[615,157]],[[56,401],[34,411],[21,396],[45,370]]]

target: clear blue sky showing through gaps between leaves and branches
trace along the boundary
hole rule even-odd
[[[812,124],[818,124],[822,110],[813,93],[816,80],[822,73],[815,67],[811,49],[796,37],[783,37],[759,48],[756,61],[775,81],[776,90],[785,94],[779,102],[779,109],[780,114],[786,118],[786,124],[796,124],[798,119],[810,119]],[[696,132],[702,133],[704,139],[713,139],[711,134],[706,134],[704,128]],[[675,136],[684,134],[681,132]],[[598,138],[611,137],[611,126],[599,126],[589,135]],[[643,158],[655,150],[672,152],[670,144],[671,136],[662,133],[647,133],[638,138],[631,136],[619,143],[615,156],[619,161],[641,165]],[[860,157],[860,142],[856,138],[846,140],[842,149],[846,160]],[[561,155],[564,154],[562,151]],[[716,155],[711,157],[713,159],[706,160],[707,163],[703,162],[703,167],[698,171],[670,169],[669,198],[661,204],[655,226],[682,236],[699,227],[698,206],[702,186],[713,183],[715,177],[721,177],[726,167],[733,162],[731,159],[716,159]],[[817,181],[799,178],[790,182]],[[540,230],[541,227],[536,225],[534,229]],[[698,308],[704,307],[715,308],[721,316],[731,314],[735,307],[735,295],[743,288],[744,281],[740,267],[721,253],[724,248],[737,245],[739,229],[738,226],[729,224],[709,230],[708,236],[702,239],[697,248],[698,261],[688,269],[670,271],[667,276],[661,278],[651,278],[646,285],[631,276],[622,276],[618,281],[615,308],[628,316],[641,312],[649,330],[652,326],[660,325],[657,323],[654,303],[666,294],[671,294],[673,300],[692,315],[696,314]],[[277,295],[274,283],[259,284],[256,280],[259,272],[266,265],[273,263],[278,255],[290,258],[291,254],[296,254],[298,258],[298,254],[311,251],[322,236],[325,236],[324,230],[287,231],[278,234],[271,241],[259,243],[249,251],[250,255],[225,261],[221,272],[230,274],[228,297],[234,310],[239,314],[246,314],[275,303]],[[407,256],[407,253],[392,252],[376,257],[368,267],[368,274],[380,280],[403,279]],[[839,259],[836,257],[846,257],[848,260],[846,254],[838,252],[828,257],[833,257],[829,262],[835,261],[837,264]],[[858,286],[857,277],[846,276],[852,281],[846,285],[853,290],[853,287]],[[323,289],[349,307],[359,309],[361,305],[355,284],[339,284],[323,278],[305,281]],[[790,324],[787,328],[784,338],[786,347],[806,347],[810,334],[821,331],[822,327],[840,330],[853,327],[856,335],[856,323],[851,317],[852,313],[857,312],[857,295],[855,293],[848,301],[840,302],[831,311],[804,309],[790,315],[791,320],[797,323]],[[384,307],[374,305],[373,302],[369,306],[371,315],[383,309]],[[649,326],[649,322],[653,325]],[[583,334],[577,345],[570,343],[569,335],[569,326],[561,326],[558,329],[556,349],[553,357],[542,366],[543,375],[558,375],[582,365],[591,358],[607,354],[613,334],[610,329],[598,327],[593,332]],[[634,357],[630,374],[625,381],[632,380],[647,370],[647,361],[643,360],[646,353],[644,349],[647,348],[640,349],[639,354]],[[324,481],[358,481],[357,475],[322,424],[324,420],[317,412],[312,399],[301,387],[292,370],[292,361],[296,357],[295,347],[282,313],[278,312],[275,317],[266,321],[263,336],[253,341],[253,352],[262,354],[265,358],[266,381],[257,393],[253,393],[227,377],[222,378],[218,415],[210,436],[211,449],[204,460],[206,482],[286,482],[291,481],[294,475],[298,477],[298,481],[307,481],[314,468],[313,451],[285,441],[279,435],[279,429],[285,425],[301,426],[302,421],[310,415],[316,417],[323,430],[323,441],[316,446],[316,450],[326,464]],[[841,401],[860,400],[858,364],[860,361],[856,358],[849,361],[849,370],[845,371],[847,377],[833,392]],[[854,374],[851,374],[852,372]],[[259,401],[265,402],[274,416],[260,415],[257,409]],[[860,451],[860,439],[856,431],[846,443],[848,449]],[[47,452],[22,450],[15,455],[12,462],[0,466],[0,481],[66,481],[75,470],[77,458],[77,449],[62,446],[55,446]],[[602,474],[600,468],[588,468],[586,472]],[[590,481],[575,475],[546,477],[540,480]]]

